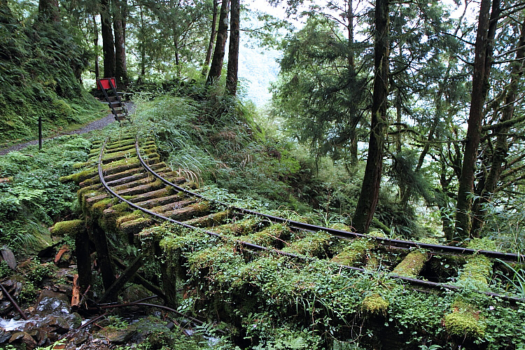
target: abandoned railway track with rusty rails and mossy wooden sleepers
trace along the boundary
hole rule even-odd
[[[139,137],[134,135],[116,141],[106,139],[90,158],[90,164],[97,164],[96,174],[76,174],[82,188],[79,198],[87,210],[99,213],[102,226],[118,230],[130,242],[144,228],[169,221],[206,235],[233,239],[237,246],[251,251],[269,251],[295,260],[329,260],[356,272],[370,272],[381,265],[382,269],[388,267],[391,279],[424,290],[461,289],[454,281],[471,274],[472,265],[479,259],[490,269],[502,267],[500,260],[519,261],[519,255],[513,253],[360,235],[209,200],[194,191],[195,183],[169,169],[156,151],[153,141],[139,144]],[[315,240],[318,232],[337,239],[338,250],[305,249],[301,242]],[[443,259],[451,264],[443,264]],[[452,263],[455,269],[442,267]],[[436,268],[442,273],[436,273]],[[493,291],[488,284],[479,293],[511,302],[521,300]]]

